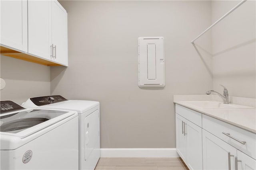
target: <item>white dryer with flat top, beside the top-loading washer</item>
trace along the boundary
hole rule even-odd
[[[100,103],[87,100],[66,100],[62,96],[30,98],[26,108],[64,109],[78,112],[79,170],[94,170],[100,158]]]

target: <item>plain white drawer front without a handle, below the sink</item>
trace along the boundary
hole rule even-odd
[[[175,106],[176,106],[175,111],[177,114],[181,115],[182,117],[185,117],[186,119],[198,125],[199,127],[202,127],[202,113],[199,113],[192,109],[188,109],[178,104],[176,104]]]

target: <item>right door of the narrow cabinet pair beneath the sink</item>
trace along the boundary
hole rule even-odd
[[[190,170],[202,170],[202,128],[190,121],[185,122],[186,164]]]

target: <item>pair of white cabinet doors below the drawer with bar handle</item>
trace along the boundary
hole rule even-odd
[[[203,165],[204,170],[256,170],[256,160],[204,129]]]

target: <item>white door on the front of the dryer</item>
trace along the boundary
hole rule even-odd
[[[90,154],[95,152],[95,149],[98,149],[98,139],[100,138],[99,119],[100,115],[98,109],[84,119],[84,160],[88,160]]]

